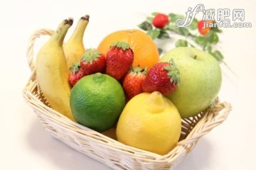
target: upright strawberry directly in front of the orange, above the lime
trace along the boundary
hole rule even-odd
[[[114,42],[107,52],[106,58],[107,74],[121,80],[132,67],[134,54],[126,42]]]

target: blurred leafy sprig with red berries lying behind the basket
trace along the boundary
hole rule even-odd
[[[146,21],[139,24],[139,28],[145,30],[152,39],[168,39],[170,33],[176,33],[184,38],[176,41],[176,47],[198,47],[201,50],[209,52],[216,60],[223,62],[223,55],[219,50],[216,50],[216,45],[219,42],[218,34],[222,31],[217,27],[203,28],[203,22],[212,23],[214,21],[198,21],[193,19],[191,26],[180,28],[175,25],[178,18],[184,19],[184,16],[175,13],[169,13],[167,16],[164,13],[152,13],[146,18]],[[213,50],[215,49],[215,50]],[[159,53],[162,50],[159,48]]]

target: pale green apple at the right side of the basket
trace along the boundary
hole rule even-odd
[[[160,62],[169,62],[171,58],[180,70],[181,84],[166,97],[182,118],[197,115],[210,106],[220,91],[220,66],[213,56],[193,47],[170,50]]]

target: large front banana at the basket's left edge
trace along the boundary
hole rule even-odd
[[[63,51],[63,40],[72,24],[72,18],[60,23],[50,40],[38,51],[36,79],[50,106],[71,120],[75,120],[70,109],[68,67]]]

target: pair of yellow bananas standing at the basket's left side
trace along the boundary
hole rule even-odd
[[[68,42],[63,48],[63,40],[73,18],[60,23],[50,40],[41,47],[36,57],[36,79],[50,106],[59,113],[75,120],[70,109],[70,84],[68,67],[77,62],[85,52],[82,36],[89,16],[80,18]]]

